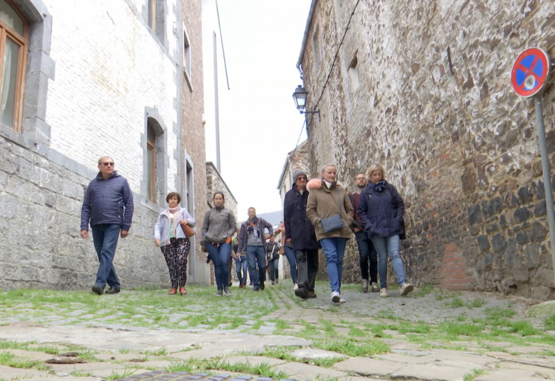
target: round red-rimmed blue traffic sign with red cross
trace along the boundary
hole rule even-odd
[[[511,71],[511,85],[519,96],[538,94],[549,74],[549,55],[540,48],[528,48],[517,57]]]

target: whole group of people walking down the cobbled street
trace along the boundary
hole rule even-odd
[[[92,291],[117,294],[119,279],[113,258],[119,236],[125,238],[133,217],[133,195],[126,179],[114,170],[110,157],[99,159],[99,174],[85,193],[81,209],[80,236],[87,239],[92,227],[99,269]],[[399,254],[400,237],[404,236],[404,202],[395,187],[385,180],[379,164],[356,178],[358,191],[348,194],[336,182],[336,166],[321,170],[321,178],[309,181],[302,170],[293,172],[294,184],[285,195],[284,220],[275,233],[280,233],[283,247],[274,242],[271,224],[258,218],[255,208],[248,209],[248,220],[237,228],[225,196],[216,191],[213,208],[206,211],[202,225],[201,246],[214,263],[216,296],[230,296],[230,260],[232,249],[237,265],[239,287],[246,287],[246,267],[253,291],[264,290],[266,265],[271,281],[279,280],[278,258],[282,253],[289,261],[293,290],[302,299],[316,298],[314,283],[318,272],[318,249],[325,254],[333,303],[344,303],[341,295],[343,255],[348,239],[355,234],[360,254],[362,292],[387,292],[387,257],[400,285],[400,293],[413,290],[407,283]],[[368,181],[368,180],[369,181]],[[187,257],[196,221],[180,206],[179,193],[169,193],[167,208],[158,215],[154,227],[154,243],[166,260],[171,288],[169,294],[187,294]],[[267,242],[267,241],[270,242]],[[282,250],[283,249],[283,250]],[[266,254],[268,256],[266,257]],[[242,271],[241,271],[242,270]],[[377,284],[379,278],[379,286]],[[105,291],[105,285],[109,289]]]

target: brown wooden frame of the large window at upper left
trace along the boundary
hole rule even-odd
[[[19,57],[17,60],[17,77],[16,77],[16,85],[15,85],[15,99],[14,99],[14,115],[13,115],[13,126],[10,127],[15,132],[22,132],[22,115],[23,115],[23,89],[25,85],[25,73],[26,73],[26,66],[27,66],[27,46],[28,46],[28,38],[29,38],[29,22],[25,15],[22,13],[19,8],[13,3],[11,0],[4,0],[8,3],[8,6],[12,7],[13,10],[17,13],[19,17],[23,20],[24,25],[24,35],[19,35],[15,30],[10,28],[6,23],[0,20],[0,73],[3,72],[3,65],[4,65],[4,53],[6,51],[6,39],[12,39],[15,44],[19,45]],[[0,87],[1,81],[3,78],[0,78]],[[1,96],[1,94],[0,94]],[[8,126],[6,126],[8,127]]]

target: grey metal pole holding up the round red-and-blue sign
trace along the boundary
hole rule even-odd
[[[547,143],[545,143],[545,127],[543,125],[542,96],[537,94],[533,97],[536,103],[536,119],[538,126],[538,138],[540,141],[540,154],[542,157],[543,186],[545,188],[545,205],[547,206],[547,224],[549,225],[549,242],[551,243],[551,259],[554,270],[555,281],[555,211],[553,209],[553,194],[551,189],[551,170],[547,160]]]

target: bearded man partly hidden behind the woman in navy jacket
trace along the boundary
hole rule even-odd
[[[349,199],[351,200],[352,208],[355,209],[355,218],[352,219],[351,230],[355,233],[355,238],[357,239],[357,246],[359,247],[360,256],[360,272],[362,276],[362,292],[368,292],[368,286],[370,286],[372,292],[378,292],[379,286],[377,285],[377,254],[372,244],[372,240],[368,237],[368,232],[364,229],[364,225],[359,218],[359,213],[357,213],[357,207],[359,206],[359,196],[361,191],[364,189],[368,180],[364,173],[359,173],[355,179],[355,184],[357,184],[357,193],[350,193]],[[370,263],[368,263],[370,262]],[[370,279],[368,279],[368,275]],[[368,281],[369,280],[369,281]]]

